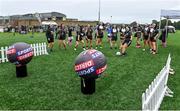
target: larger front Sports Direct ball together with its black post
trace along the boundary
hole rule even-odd
[[[104,54],[97,50],[81,52],[76,60],[74,69],[81,77],[81,91],[84,94],[95,92],[95,79],[106,70],[107,60]]]

